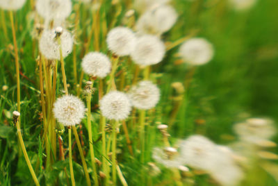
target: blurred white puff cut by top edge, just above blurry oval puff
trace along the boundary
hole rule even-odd
[[[156,8],[156,6],[161,6],[166,3],[169,3],[171,0],[135,0],[133,3],[133,7],[138,12],[144,12],[145,10],[149,10],[152,8]]]

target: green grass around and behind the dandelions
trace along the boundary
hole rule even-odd
[[[211,0],[214,1],[214,0]],[[246,117],[270,117],[278,121],[278,24],[277,24],[277,0],[259,0],[254,8],[246,12],[235,12],[227,6],[226,1],[219,1],[214,6],[209,6],[211,1],[201,1],[190,3],[188,1],[177,0],[173,2],[174,7],[179,12],[179,21],[172,30],[163,35],[163,40],[174,41],[190,31],[196,29],[197,36],[206,37],[213,43],[215,57],[211,62],[202,67],[198,67],[193,76],[188,90],[185,93],[185,101],[177,115],[177,121],[170,129],[170,141],[172,144],[188,135],[199,133],[207,136],[218,144],[229,144],[236,140],[236,135],[232,130],[237,121]],[[216,0],[215,0],[216,2]],[[108,25],[113,21],[115,7],[107,1],[101,6],[101,13],[106,12]],[[84,7],[83,7],[84,8]],[[116,25],[120,25],[120,18],[124,16],[126,7],[122,3],[122,12],[117,17]],[[83,10],[83,9],[82,9]],[[17,145],[17,132],[12,124],[12,112],[16,110],[16,76],[14,57],[10,50],[13,43],[8,12],[5,12],[8,37],[3,34],[0,26],[0,85],[8,86],[8,90],[0,90],[0,185],[33,185],[31,174],[22,155],[20,147]],[[85,33],[90,32],[92,22],[90,12],[81,12],[82,22],[79,29]],[[31,159],[33,167],[39,157],[45,160],[45,151],[40,149],[39,136],[42,135],[42,120],[40,119],[40,83],[38,78],[38,65],[35,62],[37,55],[33,56],[33,43],[31,32],[33,31],[33,19],[30,8],[30,1],[26,3],[22,10],[15,13],[17,25],[17,44],[19,47],[21,76],[21,119],[22,134],[24,143]],[[88,17],[85,21],[84,18]],[[70,22],[74,19],[70,17]],[[102,20],[102,19],[101,19]],[[1,23],[2,25],[3,23]],[[81,48],[85,40],[85,35],[79,35],[77,48],[78,74],[81,72]],[[101,37],[100,42],[103,42]],[[93,50],[90,44],[90,51]],[[161,101],[156,107],[156,112],[148,118],[149,124],[146,127],[146,155],[148,161],[152,161],[151,153],[154,146],[163,144],[162,137],[156,129],[156,122],[161,121],[167,124],[173,103],[170,97],[174,94],[171,83],[183,82],[190,68],[184,64],[174,65],[177,59],[178,47],[167,52],[167,56],[159,65],[155,65],[152,80],[158,83],[161,88]],[[107,52],[105,47],[103,52]],[[35,51],[38,54],[38,51]],[[74,91],[74,76],[72,72],[72,54],[65,59],[67,81],[70,83],[70,92]],[[58,65],[59,67],[60,65]],[[126,82],[130,83],[133,77],[132,69],[129,65],[123,64],[119,69],[126,69]],[[58,68],[60,71],[60,67]],[[85,77],[85,79],[88,79]],[[98,83],[98,82],[97,82]],[[59,90],[63,89],[62,76],[58,74],[56,96],[63,94]],[[101,160],[101,134],[99,134],[99,110],[97,109],[97,91],[93,96],[93,138],[95,141],[95,155]],[[83,99],[85,101],[85,99]],[[204,124],[196,124],[197,119],[204,119]],[[83,119],[83,135],[88,167],[90,166],[89,144],[86,119]],[[142,185],[140,176],[149,175],[138,158],[136,146],[138,145],[138,133],[129,126],[129,135],[133,142],[133,151],[136,158],[131,157],[126,144],[126,139],[122,128],[117,139],[117,149],[121,152],[117,156],[120,168],[129,185]],[[225,136],[232,135],[235,139],[230,140]],[[63,134],[64,147],[67,147],[67,132]],[[274,142],[278,142],[275,137]],[[272,150],[278,153],[277,148]],[[76,146],[73,152],[74,174],[77,185],[85,185],[83,167],[79,158]],[[67,156],[67,152],[66,152]],[[277,163],[277,162],[276,162]],[[53,170],[45,171],[40,167],[36,174],[41,185],[67,185],[63,167],[68,167],[68,158],[65,162],[57,161],[53,164]],[[172,172],[161,167],[162,174],[152,179],[154,185],[164,183],[172,179]],[[90,168],[90,171],[92,169]],[[69,171],[70,172],[70,171]],[[68,172],[68,174],[69,174]],[[258,185],[276,185],[275,180],[265,171],[259,169],[261,182]],[[57,178],[59,178],[57,180]],[[254,178],[253,180],[258,180]],[[207,176],[196,176],[196,185],[213,185],[208,181]],[[119,182],[120,184],[120,182]],[[170,184],[171,185],[171,184]],[[246,185],[252,185],[251,182]]]

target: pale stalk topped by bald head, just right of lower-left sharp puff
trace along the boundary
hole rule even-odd
[[[92,81],[93,83],[93,81]],[[87,123],[88,123],[88,133],[89,133],[89,142],[90,142],[90,157],[92,161],[92,171],[95,180],[95,185],[99,185],[99,181],[97,179],[97,167],[95,164],[95,153],[94,146],[92,146],[92,123],[91,123],[91,99],[92,94],[88,94],[87,96]]]

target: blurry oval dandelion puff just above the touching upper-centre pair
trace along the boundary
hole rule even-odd
[[[177,21],[177,12],[172,6],[158,6],[147,10],[136,23],[139,33],[162,34],[169,31]]]

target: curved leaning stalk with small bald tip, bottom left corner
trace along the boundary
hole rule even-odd
[[[23,138],[22,138],[22,132],[20,130],[20,126],[19,126],[19,122],[17,121],[16,123],[16,126],[17,126],[17,135],[18,135],[18,139],[19,139],[19,142],[20,142],[20,146],[22,147],[22,152],[24,154],[24,158],[26,160],[26,163],[28,165],[28,169],[29,171],[31,172],[31,175],[33,177],[33,180],[35,182],[35,185],[40,185],[39,181],[38,181],[38,178],[37,176],[35,176],[35,171],[33,170],[33,167],[32,167],[32,164],[28,158],[28,154],[27,154],[27,151],[26,151],[26,148],[25,148],[25,145],[24,145],[24,142],[23,142]]]

